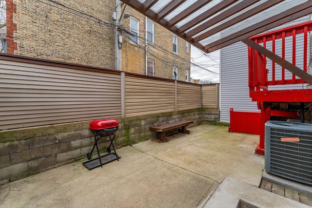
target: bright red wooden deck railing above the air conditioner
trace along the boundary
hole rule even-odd
[[[310,50],[308,49],[308,37],[310,38],[309,31],[311,30],[312,21],[308,21],[257,35],[250,39],[307,72],[309,66],[308,51]],[[303,84],[306,82],[251,47],[248,47],[248,59],[249,88],[253,101],[312,101],[311,89],[270,90],[270,86],[273,85]]]

